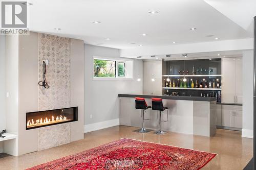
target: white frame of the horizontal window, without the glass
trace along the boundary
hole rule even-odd
[[[107,61],[115,61],[116,62],[116,75],[115,77],[94,77],[94,60],[107,60]],[[118,63],[124,63],[124,77],[118,76]],[[131,64],[132,70],[127,70],[127,64]],[[127,71],[129,71],[129,77],[127,77]],[[133,68],[133,60],[130,59],[119,59],[119,58],[110,58],[110,57],[99,57],[99,56],[93,56],[92,61],[92,78],[93,80],[134,80],[133,78],[134,74],[134,68]]]

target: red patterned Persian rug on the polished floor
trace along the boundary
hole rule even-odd
[[[215,156],[207,152],[125,138],[29,170],[198,170]]]

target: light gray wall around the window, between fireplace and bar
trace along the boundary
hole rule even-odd
[[[142,60],[134,60],[134,80],[93,80],[93,56],[119,58],[119,50],[84,44],[84,53],[84,125],[118,118],[118,93],[142,93]],[[138,75],[140,82],[137,81]]]

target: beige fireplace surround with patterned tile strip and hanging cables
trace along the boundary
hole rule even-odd
[[[9,75],[18,77],[17,112],[7,109],[6,129],[18,135],[18,138],[5,142],[4,152],[17,156],[83,139],[83,41],[30,32],[29,36],[7,36],[6,42],[13,45],[6,49],[7,57],[8,50],[16,49],[18,54],[15,56],[18,59],[18,72],[14,70],[16,73],[12,73],[17,75]],[[46,75],[49,89],[37,84],[42,80],[42,60],[49,60]],[[12,98],[8,99],[7,105],[11,102],[14,102]],[[26,130],[27,112],[76,106],[76,122]],[[11,111],[12,115],[8,116]],[[11,125],[15,122],[16,127]]]

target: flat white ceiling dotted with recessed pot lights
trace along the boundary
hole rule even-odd
[[[208,0],[207,0],[208,1]],[[219,0],[220,1],[220,0]],[[230,0],[228,2],[232,8]],[[236,0],[241,2],[251,0]],[[254,0],[255,1],[255,0]],[[119,49],[252,38],[203,0],[31,0],[30,30]],[[256,1],[255,1],[256,2]],[[219,2],[220,3],[220,2]],[[159,13],[150,14],[156,10]],[[243,9],[241,9],[243,10]],[[245,15],[241,16],[243,19]],[[236,18],[236,17],[234,17]],[[93,21],[101,23],[92,23]],[[241,20],[241,19],[240,19]],[[241,23],[241,25],[247,25]],[[189,28],[197,28],[195,31]],[[61,30],[54,30],[61,28]],[[147,36],[142,36],[146,33]],[[207,37],[207,35],[214,35]],[[111,40],[105,40],[111,38]],[[136,43],[136,44],[131,44]]]

